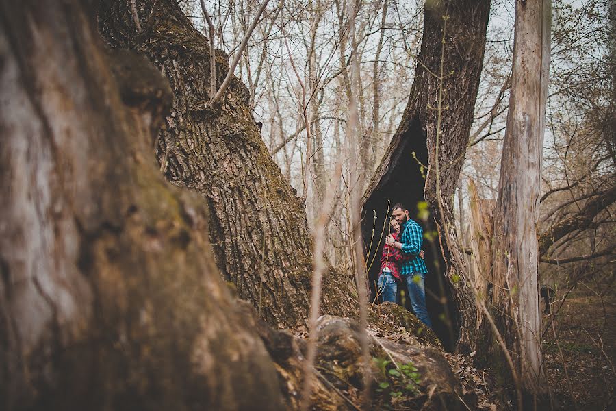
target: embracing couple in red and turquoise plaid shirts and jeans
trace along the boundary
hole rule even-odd
[[[395,303],[398,285],[406,284],[415,316],[432,328],[424,285],[428,273],[422,251],[424,230],[409,218],[409,210],[402,203],[394,205],[389,224],[391,234],[385,238],[383,246],[378,294],[383,301]]]

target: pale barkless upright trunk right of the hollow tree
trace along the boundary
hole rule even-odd
[[[494,219],[492,312],[507,349],[513,352],[525,402],[546,392],[536,216],[550,63],[550,7],[549,0],[516,3],[511,97]],[[501,348],[495,345],[493,349]]]

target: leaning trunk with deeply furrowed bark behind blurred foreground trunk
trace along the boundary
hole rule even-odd
[[[138,32],[127,3],[101,1],[99,29],[112,47],[142,51],[170,79],[172,112],[156,142],[165,176],[207,199],[216,263],[240,297],[272,325],[305,324],[313,271],[305,206],[261,140],[248,90],[233,77],[220,103],[206,108],[207,38],[173,0],[136,1],[143,27]],[[217,52],[217,86],[228,71],[227,55]],[[326,271],[323,312],[355,314],[351,284],[345,275]]]

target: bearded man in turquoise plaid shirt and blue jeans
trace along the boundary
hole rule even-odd
[[[411,307],[413,307],[415,316],[422,323],[432,328],[426,308],[426,287],[424,285],[424,277],[428,273],[428,269],[424,260],[419,256],[422,251],[424,230],[418,223],[409,218],[409,210],[401,203],[394,206],[393,215],[402,227],[402,238],[400,238],[400,241],[396,241],[393,236],[389,235],[386,243],[410,257],[409,260],[402,263],[400,274],[407,282],[409,299],[411,299]]]

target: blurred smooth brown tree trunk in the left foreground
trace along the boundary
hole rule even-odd
[[[89,21],[0,2],[0,408],[281,409],[203,199],[155,164],[168,83]]]

